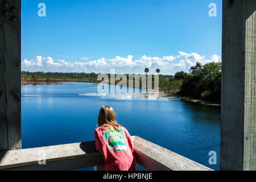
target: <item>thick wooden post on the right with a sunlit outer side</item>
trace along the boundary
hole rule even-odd
[[[221,170],[256,170],[256,1],[224,0]]]

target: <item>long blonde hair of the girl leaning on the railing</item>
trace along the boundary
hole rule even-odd
[[[112,126],[115,131],[119,131],[121,125],[118,125],[115,112],[110,106],[102,106],[98,113],[98,126],[103,131],[106,127]]]

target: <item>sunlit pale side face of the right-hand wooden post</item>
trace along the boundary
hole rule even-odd
[[[256,1],[246,2],[245,12],[245,125],[243,169],[256,170]]]

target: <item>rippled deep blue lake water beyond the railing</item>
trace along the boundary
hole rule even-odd
[[[131,135],[220,168],[220,107],[139,93],[99,94],[97,84],[85,82],[22,86],[22,148],[94,140],[104,105],[113,107]],[[210,151],[217,153],[216,165],[209,164]]]

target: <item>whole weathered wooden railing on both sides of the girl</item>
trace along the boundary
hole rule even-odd
[[[137,163],[147,170],[212,170],[137,136],[132,140]],[[39,164],[42,159],[46,159],[45,165]],[[104,158],[96,151],[94,142],[0,152],[0,170],[72,170],[92,166],[104,169]]]

